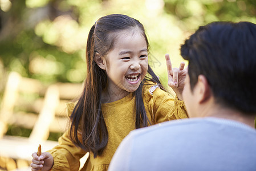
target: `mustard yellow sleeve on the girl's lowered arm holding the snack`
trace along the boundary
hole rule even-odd
[[[72,113],[74,109],[74,103],[67,104],[68,115]],[[79,137],[81,139],[81,137]],[[59,138],[59,145],[55,146],[53,149],[48,150],[47,152],[51,153],[54,157],[54,165],[51,170],[78,170],[80,166],[80,158],[82,158],[86,151],[82,148],[79,148],[74,143],[72,143],[69,131],[63,133]]]

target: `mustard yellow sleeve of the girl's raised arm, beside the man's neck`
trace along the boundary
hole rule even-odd
[[[144,92],[144,103],[151,113],[153,124],[188,117],[184,101],[178,100],[177,96],[173,99],[159,87],[153,89],[153,92],[152,87],[147,89]]]

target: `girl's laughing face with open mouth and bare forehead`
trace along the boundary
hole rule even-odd
[[[118,32],[112,50],[103,60],[110,96],[118,100],[136,91],[148,71],[148,47],[144,36],[138,30]]]

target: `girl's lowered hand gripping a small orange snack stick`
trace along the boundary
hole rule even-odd
[[[51,156],[50,153],[45,152],[42,153],[40,156],[37,155],[37,153],[32,153],[32,162],[31,162],[31,170],[37,171],[47,171],[52,168],[52,165],[54,165],[54,158]]]

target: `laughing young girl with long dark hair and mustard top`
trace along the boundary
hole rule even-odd
[[[67,105],[70,130],[52,150],[32,154],[32,170],[78,170],[87,152],[82,170],[107,170],[117,146],[133,129],[187,117],[178,100],[184,63],[173,72],[166,55],[169,86],[179,96],[172,99],[148,65],[148,49],[143,25],[127,15],[107,15],[92,26],[84,91],[78,103]]]

